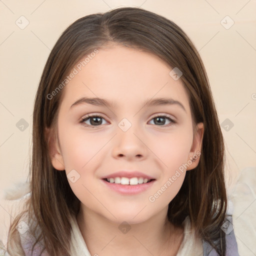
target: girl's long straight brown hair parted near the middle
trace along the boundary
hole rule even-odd
[[[29,232],[36,238],[34,244],[41,242],[51,256],[70,254],[70,216],[78,213],[80,201],[72,192],[65,172],[53,168],[44,132],[45,127],[56,126],[64,88],[51,99],[47,95],[83,56],[112,42],[154,53],[182,71],[180,79],[189,95],[193,127],[203,122],[204,134],[199,163],[186,172],[179,192],[169,203],[167,217],[175,226],[181,226],[189,215],[196,234],[219,255],[224,255],[225,236],[220,228],[227,204],[224,142],[202,60],[174,22],[136,7],[121,7],[79,18],[65,29],[51,50],[34,101],[29,169],[31,197],[26,209],[9,228],[8,252],[24,254],[17,252],[22,248],[16,243],[19,234],[15,226],[26,212],[28,219],[33,216],[36,219],[36,226],[29,226]]]

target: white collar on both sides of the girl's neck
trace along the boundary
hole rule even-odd
[[[202,256],[202,240],[194,237],[194,232],[191,230],[189,216],[183,221],[184,237],[178,249],[176,256]],[[96,256],[91,255],[82,237],[77,220],[75,217],[71,220],[72,233],[71,233],[71,255],[72,256]]]

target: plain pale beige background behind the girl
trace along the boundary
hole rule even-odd
[[[222,126],[228,194],[234,191],[237,177],[244,170],[249,173],[248,180],[253,180],[250,175],[255,175],[256,166],[256,0],[1,0],[1,196],[4,189],[27,176],[33,100],[50,49],[77,18],[121,6],[141,6],[163,15],[191,38],[204,62]],[[23,28],[26,22],[29,23]],[[21,118],[28,123],[23,131],[16,126]],[[233,123],[233,127],[227,122]],[[255,182],[251,186],[255,187]],[[244,192],[244,188],[241,190]],[[240,209],[241,214],[235,211],[240,206],[237,200],[234,203],[234,227],[235,223],[239,225],[240,215],[255,209],[256,192],[250,192],[252,199]],[[4,203],[1,199],[0,223],[9,217]],[[256,255],[255,226],[254,223],[250,235],[238,232],[238,227],[234,229],[240,255]]]

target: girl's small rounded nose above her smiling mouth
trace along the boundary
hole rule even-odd
[[[145,137],[133,127],[134,125],[126,131],[117,127],[117,134],[113,138],[114,144],[112,148],[112,156],[114,158],[123,157],[127,160],[142,160],[147,157],[148,148]]]

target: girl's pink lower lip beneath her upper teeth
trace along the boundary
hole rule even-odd
[[[121,185],[121,184],[107,182],[104,179],[101,179],[101,180],[110,189],[113,189],[114,191],[120,194],[126,194],[126,195],[141,193],[146,189],[148,189],[155,181],[154,179],[148,183],[142,183],[137,185]]]

